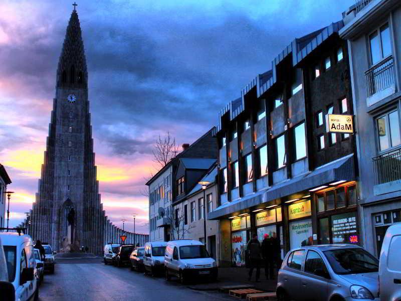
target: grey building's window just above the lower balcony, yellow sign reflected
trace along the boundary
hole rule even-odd
[[[377,118],[376,123],[380,150],[385,150],[401,144],[397,110]]]

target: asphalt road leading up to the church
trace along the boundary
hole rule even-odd
[[[233,300],[218,291],[197,291],[164,277],[151,277],[104,265],[100,259],[59,260],[55,273],[46,274],[39,289],[41,301],[74,300]]]

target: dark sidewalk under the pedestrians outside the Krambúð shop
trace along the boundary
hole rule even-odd
[[[225,285],[253,285],[255,288],[265,291],[276,291],[277,274],[275,280],[267,280],[265,277],[265,269],[260,270],[260,282],[255,281],[255,273],[252,275],[251,281],[248,281],[249,269],[245,267],[221,267],[219,268],[219,277],[216,282],[203,282],[189,284],[188,287],[195,290],[218,290]]]

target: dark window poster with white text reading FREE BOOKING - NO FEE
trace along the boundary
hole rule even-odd
[[[333,233],[333,243],[351,242],[350,237],[356,236],[356,212],[333,215],[331,232]]]

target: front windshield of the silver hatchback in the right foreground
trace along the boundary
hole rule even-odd
[[[324,255],[339,275],[377,272],[379,268],[379,261],[359,248],[324,251]]]

